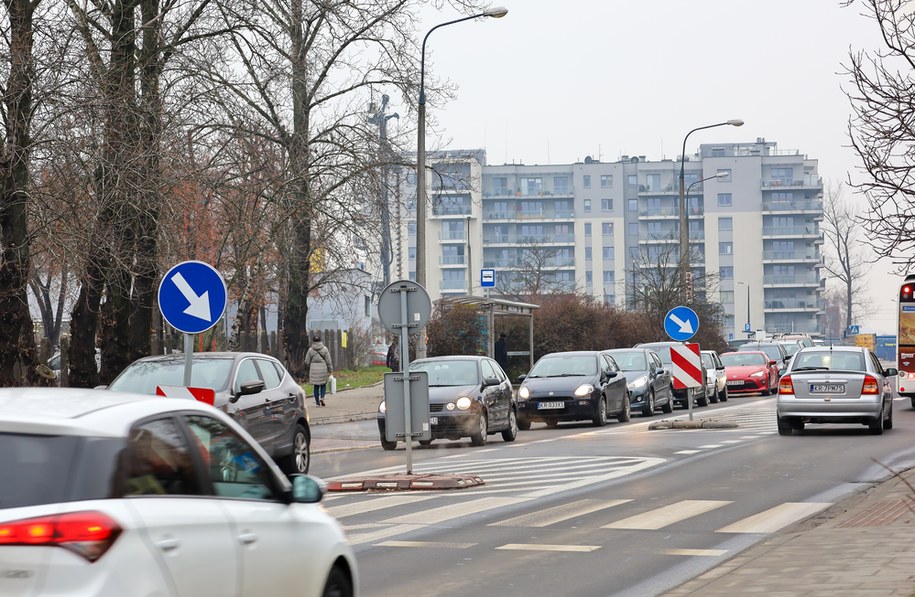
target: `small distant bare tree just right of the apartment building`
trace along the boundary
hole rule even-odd
[[[843,196],[841,183],[826,185],[823,201],[823,236],[829,249],[825,269],[842,284],[845,327],[864,316],[869,305],[864,297],[868,262],[861,242],[861,214]]]

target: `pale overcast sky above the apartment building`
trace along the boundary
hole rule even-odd
[[[877,27],[860,7],[839,0],[493,5],[509,14],[429,37],[427,69],[457,86],[454,101],[429,107],[442,133],[430,148],[482,147],[490,164],[673,159],[690,129],[740,118],[741,128],[691,135],[687,152],[764,137],[818,159],[824,182],[859,176],[842,64],[849,48],[879,47]],[[428,30],[458,16],[429,11],[424,24]],[[878,313],[859,322],[862,331],[893,333],[890,299],[901,277],[891,269],[872,269]]]

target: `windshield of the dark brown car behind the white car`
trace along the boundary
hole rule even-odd
[[[225,392],[232,374],[231,358],[194,359],[191,365],[191,387],[213,388]],[[133,363],[115,378],[109,390],[155,394],[156,386],[183,386],[184,359],[140,361]]]

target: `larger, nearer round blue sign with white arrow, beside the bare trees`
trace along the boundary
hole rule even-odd
[[[205,332],[226,310],[226,283],[212,265],[183,261],[168,270],[159,283],[159,310],[179,332]]]

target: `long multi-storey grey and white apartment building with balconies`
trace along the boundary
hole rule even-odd
[[[428,157],[426,273],[433,300],[535,287],[627,306],[633,272],[679,258],[681,160],[621,156],[559,165],[488,165],[483,150]],[[823,184],[817,161],[776,143],[707,143],[683,160],[690,264],[710,275],[726,337],[817,332]],[[415,196],[415,178],[404,195]],[[413,191],[409,185],[413,185]],[[415,200],[394,264],[415,279]],[[673,272],[672,272],[673,275]],[[395,277],[397,275],[395,274]]]

